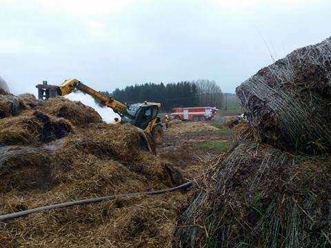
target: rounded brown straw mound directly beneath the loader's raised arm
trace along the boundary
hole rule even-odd
[[[92,107],[81,102],[70,101],[61,96],[42,101],[38,110],[57,117],[66,118],[76,127],[88,127],[90,123],[101,123],[102,118]]]

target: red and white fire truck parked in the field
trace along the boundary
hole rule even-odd
[[[209,121],[218,111],[216,107],[174,107],[172,110],[170,116],[182,121]]]

